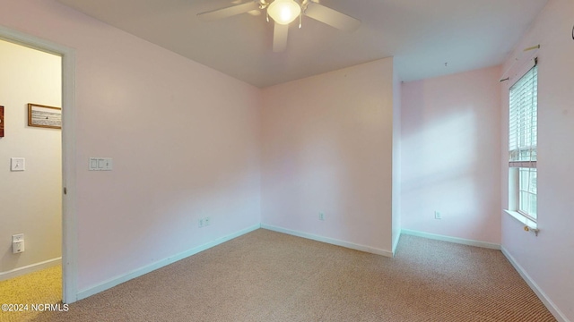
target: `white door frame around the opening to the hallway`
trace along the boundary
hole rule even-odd
[[[77,301],[75,50],[0,26],[0,39],[62,57],[62,301]]]

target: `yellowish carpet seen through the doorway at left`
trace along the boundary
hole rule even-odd
[[[0,304],[12,305],[16,311],[0,311],[0,321],[30,321],[39,311],[30,304],[53,304],[62,301],[62,267],[49,267],[0,282]],[[22,304],[14,307],[13,304]],[[24,305],[28,305],[25,307]]]

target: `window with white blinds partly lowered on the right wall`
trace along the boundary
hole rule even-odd
[[[536,222],[538,68],[509,90],[509,210]]]

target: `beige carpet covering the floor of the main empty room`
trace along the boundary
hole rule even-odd
[[[508,260],[403,235],[396,258],[263,229],[38,321],[555,321]]]

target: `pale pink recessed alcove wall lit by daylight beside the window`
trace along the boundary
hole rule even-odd
[[[403,84],[403,229],[500,243],[499,78],[492,67]]]

